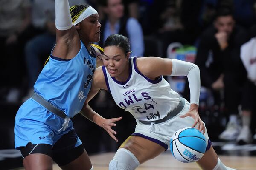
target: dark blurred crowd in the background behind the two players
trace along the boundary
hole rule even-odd
[[[89,4],[100,16],[100,46],[110,34],[123,34],[132,56],[158,56],[195,62],[201,70],[200,116],[212,141],[249,144],[256,140],[256,0],[69,0]],[[20,105],[55,45],[54,0],[0,0],[0,149],[14,148],[13,125]],[[245,50],[241,50],[244,47]],[[244,52],[244,53],[243,53]],[[241,56],[249,56],[245,60]],[[253,58],[254,57],[254,58]],[[249,63],[249,66],[246,65]],[[249,76],[251,75],[251,76]],[[189,100],[183,77],[168,79]],[[119,142],[81,115],[73,118],[87,152],[116,150],[136,122],[101,91],[90,105],[117,122]]]

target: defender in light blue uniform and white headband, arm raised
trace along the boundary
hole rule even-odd
[[[56,45],[35,82],[35,94],[15,118],[15,148],[26,170],[93,170],[70,117],[79,113],[91,87],[99,50],[99,15],[91,6],[55,0]],[[119,118],[121,119],[121,118]],[[106,119],[113,121],[113,119]]]

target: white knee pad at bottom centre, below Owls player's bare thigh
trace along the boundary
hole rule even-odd
[[[109,162],[109,170],[135,170],[140,165],[138,159],[131,151],[121,148]]]

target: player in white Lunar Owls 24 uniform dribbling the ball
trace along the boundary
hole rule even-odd
[[[108,131],[116,124],[104,119],[87,103],[99,91],[108,90],[119,107],[129,111],[137,121],[134,133],[116,151],[109,170],[134,170],[143,162],[167,150],[173,133],[183,127],[195,127],[208,144],[197,161],[203,170],[233,170],[226,167],[211,146],[204,122],[198,114],[200,71],[197,65],[160,57],[130,57],[129,41],[122,35],[111,35],[104,44],[104,66],[96,69],[92,88],[84,105],[91,121]],[[188,77],[191,104],[170,88],[162,75]],[[111,122],[112,121],[112,122]]]

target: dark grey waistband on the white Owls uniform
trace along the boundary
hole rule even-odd
[[[177,114],[180,113],[180,111],[182,111],[182,109],[185,106],[185,99],[184,98],[180,98],[180,103],[177,106],[177,108],[175,108],[174,110],[170,111],[169,113],[167,113],[167,115],[163,118],[163,119],[159,119],[159,120],[155,120],[155,121],[144,121],[144,120],[139,120],[141,123],[145,124],[145,125],[150,125],[152,122],[154,122],[155,124],[158,123],[162,123],[165,122],[169,119],[172,119],[174,116],[176,116]]]

